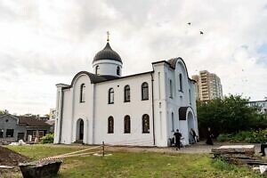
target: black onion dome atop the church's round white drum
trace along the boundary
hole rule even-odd
[[[118,55],[117,52],[111,49],[109,42],[106,44],[104,49],[102,49],[99,53],[96,53],[93,58],[93,62],[100,60],[112,60],[112,61],[119,61],[122,63],[120,56]]]

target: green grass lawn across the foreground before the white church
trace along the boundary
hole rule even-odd
[[[29,158],[38,159],[79,150],[71,147],[9,146]],[[107,157],[64,158],[58,177],[263,177],[247,166],[214,161],[208,154],[156,152],[109,152]]]

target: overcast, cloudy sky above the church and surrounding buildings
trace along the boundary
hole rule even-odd
[[[93,71],[107,30],[124,76],[182,57],[190,76],[221,77],[223,94],[267,96],[265,0],[0,0],[0,109],[49,113],[55,84]]]

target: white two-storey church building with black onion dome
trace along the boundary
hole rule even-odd
[[[182,58],[152,63],[152,71],[122,76],[109,40],[70,85],[57,84],[54,143],[166,147],[179,129],[186,144],[198,134],[195,81]]]

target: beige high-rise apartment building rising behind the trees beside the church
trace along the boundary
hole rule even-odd
[[[197,100],[209,101],[214,98],[223,97],[221,79],[207,70],[199,71],[199,76],[192,76],[196,83]]]

